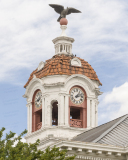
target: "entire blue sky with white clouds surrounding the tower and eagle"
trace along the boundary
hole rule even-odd
[[[0,1],[0,128],[20,134],[27,128],[23,88],[41,61],[54,54],[61,34],[59,15],[48,4],[74,7],[66,34],[75,39],[73,54],[88,61],[103,84],[98,123],[128,114],[127,0]]]

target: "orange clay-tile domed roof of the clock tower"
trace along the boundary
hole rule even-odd
[[[73,58],[78,58],[81,61],[81,67],[71,65],[71,60]],[[100,82],[100,80],[96,75],[96,72],[87,61],[79,57],[62,54],[62,55],[55,55],[51,59],[47,60],[46,64],[41,70],[38,71],[38,69],[36,69],[35,71],[33,71],[27,83],[24,85],[24,87],[25,88],[27,87],[29,82],[33,79],[33,75],[41,79],[43,77],[51,75],[73,75],[73,74],[85,75],[89,79],[96,80],[99,82],[100,85],[102,85],[102,83]]]

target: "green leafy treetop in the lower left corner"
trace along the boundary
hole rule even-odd
[[[21,141],[22,136],[27,133],[23,131],[18,137],[11,132],[3,139],[5,128],[0,130],[0,160],[74,160],[75,156],[66,157],[66,150],[59,150],[57,147],[46,148],[45,151],[37,150],[39,139],[28,144]]]

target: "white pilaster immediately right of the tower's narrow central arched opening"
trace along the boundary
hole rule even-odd
[[[60,95],[60,107],[59,107],[59,115],[60,115],[60,126],[64,125],[64,95]]]

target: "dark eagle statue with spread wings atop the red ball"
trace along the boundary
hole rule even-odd
[[[61,18],[66,18],[66,15],[69,15],[71,13],[81,13],[81,11],[75,8],[67,7],[66,9],[64,9],[64,6],[58,4],[49,4],[49,6],[54,8],[54,10],[60,14],[60,17],[57,19],[58,22]]]

